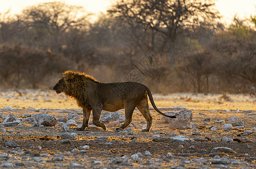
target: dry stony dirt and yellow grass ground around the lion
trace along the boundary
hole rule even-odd
[[[145,119],[138,110],[133,113],[133,134],[115,132],[109,126],[107,131],[94,126],[92,122],[86,131],[77,134],[76,140],[63,144],[60,126],[0,127],[0,167],[15,168],[256,168],[256,107],[255,98],[248,95],[153,95],[155,104],[163,112],[176,112],[183,106],[192,110],[192,123],[199,127],[190,130],[171,130],[163,123],[161,115],[150,110],[153,126],[150,132],[141,132]],[[12,109],[5,109],[10,105]],[[215,110],[215,111],[212,111]],[[82,112],[74,100],[57,95],[54,91],[19,90],[0,92],[1,122],[10,113],[18,118],[26,114],[49,113],[55,118],[66,117],[69,113]],[[104,115],[107,112],[103,112]],[[122,112],[124,115],[124,112]],[[236,116],[244,122],[244,128],[222,129],[228,119]],[[222,123],[216,121],[223,120]],[[212,131],[215,126],[218,130]],[[3,130],[5,128],[5,130]],[[1,132],[2,130],[2,132]],[[251,131],[251,132],[244,132]],[[154,141],[159,135],[162,140]],[[185,136],[189,141],[173,141],[173,136]],[[97,141],[97,138],[102,140]],[[136,137],[136,141],[134,141]],[[223,137],[232,137],[232,143],[223,143]],[[206,139],[205,139],[206,138]],[[132,141],[133,139],[133,141]],[[6,142],[15,141],[17,148],[9,148]],[[109,144],[111,143],[111,144]],[[88,145],[89,149],[79,147]],[[227,147],[232,152],[212,152],[213,148]],[[150,152],[146,155],[145,152]],[[136,153],[138,156],[134,155]],[[169,153],[169,155],[167,155]],[[171,155],[170,155],[171,153]]]

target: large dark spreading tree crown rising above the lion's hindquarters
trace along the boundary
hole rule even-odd
[[[177,35],[185,29],[191,29],[202,22],[212,21],[218,16],[213,8],[214,3],[197,0],[131,0],[119,1],[109,12],[124,20],[133,31],[134,41],[145,45],[145,38],[141,35],[149,35],[146,44],[147,50],[153,51],[155,47],[163,52],[170,48],[168,43],[175,42]],[[160,39],[160,45],[159,43]]]

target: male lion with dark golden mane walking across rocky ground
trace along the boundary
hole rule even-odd
[[[155,106],[152,94],[144,84],[136,82],[122,83],[100,83],[90,75],[67,71],[63,77],[53,87],[57,94],[64,92],[67,96],[74,97],[77,104],[83,108],[83,125],[77,130],[84,130],[88,127],[90,112],[93,110],[93,124],[106,130],[106,126],[99,122],[101,110],[116,112],[125,109],[125,121],[120,127],[126,128],[132,122],[133,110],[137,107],[147,121],[147,127],[142,131],[149,131],[152,124],[152,117],[149,113],[147,95],[155,110],[158,113],[170,117],[160,112]],[[118,131],[119,127],[115,130]]]

